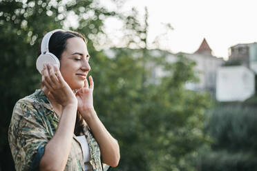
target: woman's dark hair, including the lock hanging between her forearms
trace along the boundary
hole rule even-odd
[[[61,54],[64,52],[64,50],[66,50],[67,40],[73,37],[80,37],[86,43],[85,37],[78,32],[58,31],[58,32],[55,32],[50,37],[49,44],[48,44],[49,52],[55,54],[55,56],[59,60],[61,60]],[[81,114],[79,113],[79,111],[77,110],[74,134],[78,136],[81,132],[83,132],[83,127],[84,127],[84,120]]]

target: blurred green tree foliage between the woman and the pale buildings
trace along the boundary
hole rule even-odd
[[[97,113],[120,143],[121,160],[114,170],[192,170],[187,155],[206,141],[202,130],[209,107],[207,94],[184,88],[196,80],[195,63],[182,55],[167,63],[169,53],[158,50],[160,56],[151,56],[148,50],[146,63],[152,68],[144,68],[142,49],[111,51],[112,57],[94,57],[92,66]],[[166,77],[153,81],[146,73],[158,67]]]

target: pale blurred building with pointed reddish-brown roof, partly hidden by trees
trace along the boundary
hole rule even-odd
[[[125,50],[126,48],[124,48]],[[131,51],[131,56],[140,56],[142,57],[143,54],[142,50],[137,49],[129,49]],[[112,58],[115,57],[115,49],[109,49],[104,50],[104,53]],[[166,57],[167,62],[174,63],[177,61],[178,54],[173,54],[171,52],[165,51],[165,50],[148,50],[148,53],[151,54],[153,57]],[[188,57],[189,59],[196,61],[196,68],[195,73],[197,77],[199,78],[198,83],[187,83],[186,88],[189,90],[196,90],[196,91],[209,91],[211,94],[213,94],[213,97],[216,96],[216,72],[220,66],[224,63],[224,60],[222,58],[214,57],[212,54],[212,50],[209,47],[206,39],[203,39],[202,43],[200,44],[200,47],[196,52],[193,54],[189,53],[183,53],[180,52],[180,54],[183,54],[185,57]],[[158,78],[163,77],[166,73],[164,70],[162,70],[162,67],[158,67],[155,65],[155,63],[147,63],[146,65],[149,68],[154,68],[151,73],[153,83],[158,83]]]

